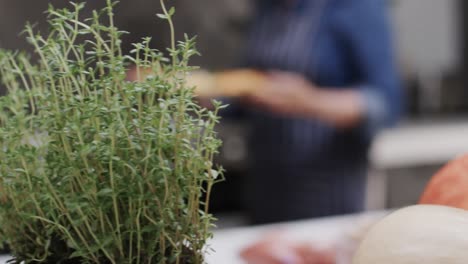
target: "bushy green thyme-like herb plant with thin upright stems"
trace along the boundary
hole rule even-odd
[[[186,76],[194,39],[168,58],[150,38],[121,50],[114,2],[50,7],[50,34],[27,26],[37,60],[0,51],[0,241],[13,263],[202,263],[219,121]],[[129,65],[151,69],[126,80]],[[138,72],[137,72],[138,74]]]

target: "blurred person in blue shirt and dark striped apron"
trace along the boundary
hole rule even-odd
[[[373,137],[396,123],[400,80],[384,0],[264,0],[246,66],[254,223],[363,210]]]

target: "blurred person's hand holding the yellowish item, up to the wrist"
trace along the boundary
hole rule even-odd
[[[289,72],[271,72],[260,89],[252,91],[247,103],[286,115],[309,115],[316,87],[303,76]]]

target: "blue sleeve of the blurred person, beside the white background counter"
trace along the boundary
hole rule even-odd
[[[402,90],[396,66],[387,1],[355,0],[341,21],[365,111],[363,132],[372,138],[394,125],[402,112]]]

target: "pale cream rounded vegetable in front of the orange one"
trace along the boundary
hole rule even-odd
[[[370,229],[353,258],[353,264],[467,263],[468,211],[436,205],[388,215]]]

